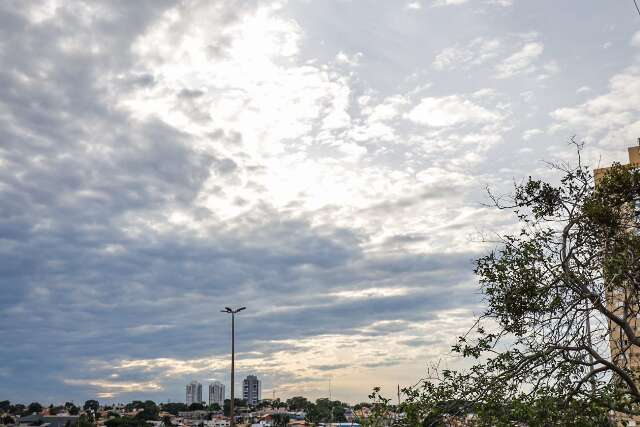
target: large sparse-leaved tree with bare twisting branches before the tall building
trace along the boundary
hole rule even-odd
[[[492,425],[587,426],[640,412],[628,363],[640,350],[640,171],[616,164],[596,186],[579,150],[576,167],[553,166],[557,184],[529,178],[492,196],[520,230],[476,263],[487,309],[453,348],[475,365],[405,390],[411,422],[473,410]]]

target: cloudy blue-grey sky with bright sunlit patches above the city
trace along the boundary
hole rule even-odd
[[[631,1],[0,2],[0,400],[457,367],[487,206],[640,136]],[[491,240],[491,239],[489,239]],[[206,391],[205,391],[206,398]]]

